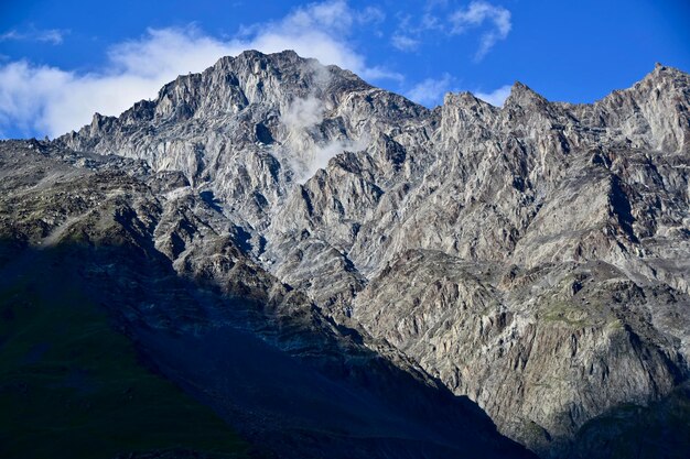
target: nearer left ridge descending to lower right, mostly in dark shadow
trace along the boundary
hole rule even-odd
[[[250,260],[181,174],[35,141],[0,157],[2,457],[532,457]]]

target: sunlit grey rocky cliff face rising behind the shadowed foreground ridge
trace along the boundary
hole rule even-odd
[[[583,428],[689,376],[677,69],[593,105],[517,83],[503,108],[465,92],[428,110],[291,52],[246,52],[51,147],[164,177],[145,239],[179,274],[228,293],[241,278],[259,304],[299,296],[542,457],[596,453]]]

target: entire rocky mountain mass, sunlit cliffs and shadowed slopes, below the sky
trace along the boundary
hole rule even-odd
[[[680,70],[429,110],[245,52],[0,153],[2,457],[690,456]]]

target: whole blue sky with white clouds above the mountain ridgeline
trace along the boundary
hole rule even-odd
[[[119,114],[176,75],[245,48],[295,50],[432,107],[522,81],[592,102],[654,64],[690,70],[690,2],[32,1],[0,4],[0,138],[55,136]]]

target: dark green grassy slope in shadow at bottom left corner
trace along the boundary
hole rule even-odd
[[[0,284],[1,458],[249,455],[211,408],[140,364],[58,266],[21,271]]]

